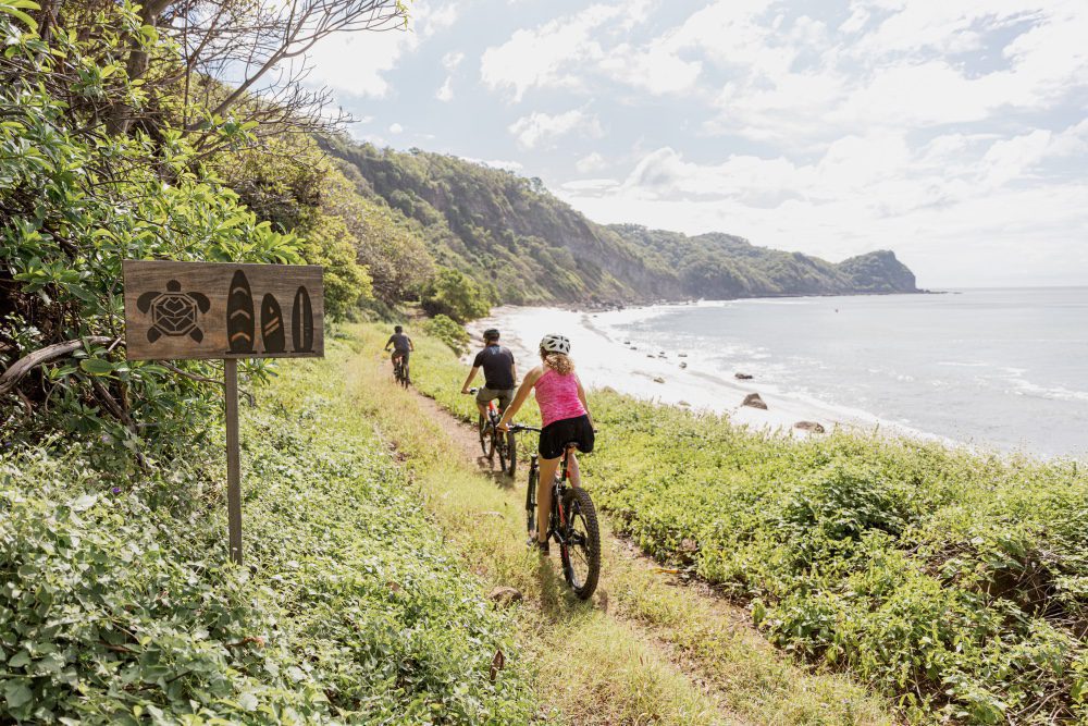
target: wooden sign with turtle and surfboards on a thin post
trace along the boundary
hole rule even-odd
[[[322,268],[124,260],[123,269],[128,360],[223,359],[227,521],[240,565],[238,358],[324,355]]]

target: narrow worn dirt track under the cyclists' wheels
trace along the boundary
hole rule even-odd
[[[507,516],[520,517],[528,463],[519,463],[516,480],[497,472],[481,455],[475,427],[415,389],[412,393],[419,409],[505,492]],[[592,482],[588,484],[592,491]],[[717,711],[710,723],[892,723],[882,704],[856,685],[834,675],[812,674],[784,659],[751,625],[743,608],[724,601],[705,583],[681,580],[617,538],[607,516],[602,517],[602,547],[596,608],[702,692]],[[551,559],[558,573],[558,558]],[[706,723],[705,715],[690,723]]]

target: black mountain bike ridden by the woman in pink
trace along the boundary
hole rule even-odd
[[[535,431],[531,426],[515,423],[510,431]],[[564,448],[559,471],[552,482],[552,510],[547,521],[547,539],[559,545],[562,577],[574,594],[589,600],[601,576],[601,531],[597,510],[590,493],[582,487],[567,485],[567,459],[578,444]],[[533,454],[529,459],[529,487],[526,490],[526,529],[529,537],[536,537],[536,485],[540,481],[540,460]]]

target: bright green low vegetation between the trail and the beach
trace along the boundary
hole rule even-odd
[[[417,357],[417,384],[470,418],[462,373]],[[786,651],[873,684],[912,722],[1088,718],[1083,466],[796,441],[609,391],[590,404],[594,501]]]

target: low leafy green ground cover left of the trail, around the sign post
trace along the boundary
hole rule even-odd
[[[0,722],[530,718],[512,624],[344,395],[351,355],[243,406],[244,568],[221,448],[133,480],[60,442],[0,459]]]

